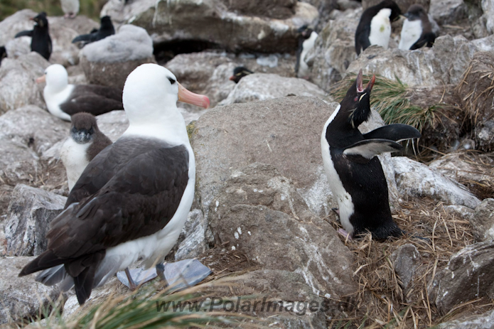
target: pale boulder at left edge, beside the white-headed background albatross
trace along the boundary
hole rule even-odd
[[[35,52],[17,59],[4,58],[0,66],[0,114],[28,104],[45,107],[41,85],[36,85],[35,80],[49,65]]]

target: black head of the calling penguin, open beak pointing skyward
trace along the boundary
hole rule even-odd
[[[357,79],[353,82],[345,98],[341,101],[341,110],[345,110],[348,114],[348,123],[353,129],[356,129],[360,124],[367,121],[370,114],[370,91],[374,86],[375,75],[372,75],[367,87],[363,87],[363,72],[360,70]]]

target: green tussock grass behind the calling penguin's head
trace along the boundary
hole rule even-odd
[[[337,102],[345,97],[355,77],[355,74],[348,74],[331,90],[331,95]],[[364,77],[364,86],[369,80],[370,78]],[[374,87],[372,87],[370,106],[381,114],[386,124],[409,124],[421,131],[426,124],[434,122],[434,113],[441,107],[441,104],[423,109],[410,103],[409,92],[409,87],[398,77],[396,80],[390,80],[377,75]]]

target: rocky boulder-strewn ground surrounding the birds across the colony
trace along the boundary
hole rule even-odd
[[[122,87],[137,65],[159,63],[212,105],[178,104],[197,181],[167,257],[196,257],[213,270],[210,282],[236,283],[207,293],[327,306],[243,312],[271,328],[494,328],[494,1],[423,0],[440,28],[432,48],[397,49],[399,21],[389,49],[371,46],[359,57],[353,35],[372,1],[247,2],[110,0],[102,15],[112,16],[117,36],[82,50],[70,41],[98,24],[49,17],[50,62],[29,53],[29,38],[14,39],[36,13],[0,22],[9,54],[0,66],[0,324],[43,318],[52,301],[70,320],[129,293],[112,279],[79,308],[73,292],[59,297],[56,287],[17,277],[43,252],[68,195],[58,151],[70,124],[47,112],[34,79],[60,63],[71,83]],[[397,3],[406,11],[411,2]],[[306,57],[309,80],[294,72],[304,24],[319,32]],[[255,74],[235,85],[228,77],[239,65]],[[412,119],[424,136],[408,157],[380,157],[394,220],[409,232],[385,242],[338,236],[321,161],[321,129],[338,88],[361,68],[379,75],[384,91],[401,81],[393,97],[419,109]],[[376,99],[385,95],[377,89]],[[388,118],[374,111],[360,128]],[[115,140],[128,122],[115,111],[98,125]]]

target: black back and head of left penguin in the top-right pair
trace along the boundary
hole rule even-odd
[[[375,6],[365,9],[360,17],[357,30],[355,31],[355,52],[357,55],[360,55],[361,51],[371,45],[369,40],[370,23],[372,18],[374,18],[374,16],[376,16],[381,9],[385,8],[391,9],[390,21],[392,22],[396,21],[399,18],[399,15],[402,14],[399,6],[393,0],[384,0]]]

